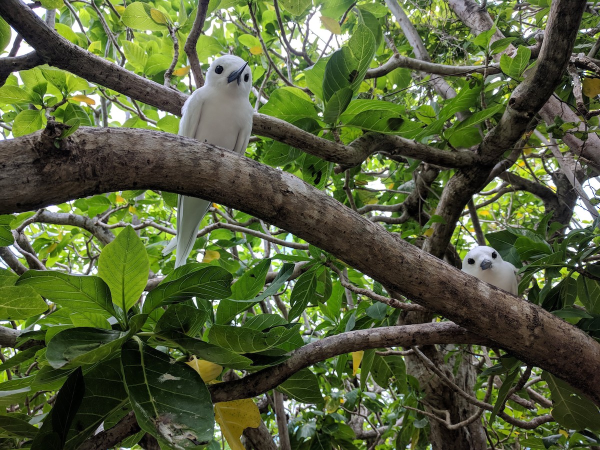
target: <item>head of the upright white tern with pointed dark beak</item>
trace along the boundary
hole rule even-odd
[[[252,71],[239,56],[220,56],[208,68],[205,86],[223,89],[224,92],[237,91],[248,96],[252,86]]]

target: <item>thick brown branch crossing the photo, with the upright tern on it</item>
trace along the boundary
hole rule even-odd
[[[383,286],[565,379],[600,404],[600,344],[595,340],[408,244],[290,173],[156,131],[88,128],[59,141],[58,150],[54,142],[40,131],[0,142],[0,191],[5,193],[0,214],[123,189],[209,198],[329,251]]]

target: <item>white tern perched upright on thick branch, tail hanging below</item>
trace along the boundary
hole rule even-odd
[[[243,154],[252,131],[251,86],[252,73],[242,58],[225,55],[215,59],[206,72],[205,85],[191,94],[181,109],[178,134]],[[163,250],[166,255],[176,248],[175,267],[185,264],[210,205],[209,200],[178,197],[177,236]]]

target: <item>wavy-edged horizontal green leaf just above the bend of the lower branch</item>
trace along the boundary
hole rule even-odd
[[[224,347],[236,353],[257,353],[280,346],[298,334],[300,324],[287,328],[275,326],[262,332],[250,328],[228,325],[213,325],[208,332],[211,344]]]

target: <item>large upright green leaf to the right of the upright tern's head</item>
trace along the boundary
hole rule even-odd
[[[364,24],[356,26],[346,46],[337,50],[325,66],[323,98],[326,101],[343,88],[358,92],[358,88],[373,60],[375,38]]]

